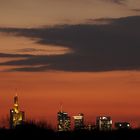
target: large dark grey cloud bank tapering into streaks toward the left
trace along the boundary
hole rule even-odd
[[[14,69],[18,71],[139,70],[139,25],[140,17],[135,16],[112,19],[109,24],[99,25],[61,25],[38,29],[1,28],[1,32],[35,38],[40,44],[61,45],[73,50],[73,53],[69,54],[33,56],[1,65],[20,66]]]

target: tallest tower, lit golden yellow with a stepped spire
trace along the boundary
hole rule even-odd
[[[10,128],[23,124],[25,120],[25,113],[20,111],[18,104],[18,96],[14,97],[14,107],[10,109]]]

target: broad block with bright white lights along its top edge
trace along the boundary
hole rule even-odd
[[[112,129],[112,120],[108,116],[98,116],[96,118],[96,127],[98,130],[111,130]]]

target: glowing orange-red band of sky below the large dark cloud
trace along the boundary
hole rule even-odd
[[[56,125],[60,102],[71,116],[82,112],[86,122],[98,115],[115,121],[140,123],[140,72],[3,72],[0,73],[1,112],[5,117],[13,106],[15,88],[26,118],[47,120]],[[54,123],[55,122],[55,123]]]

